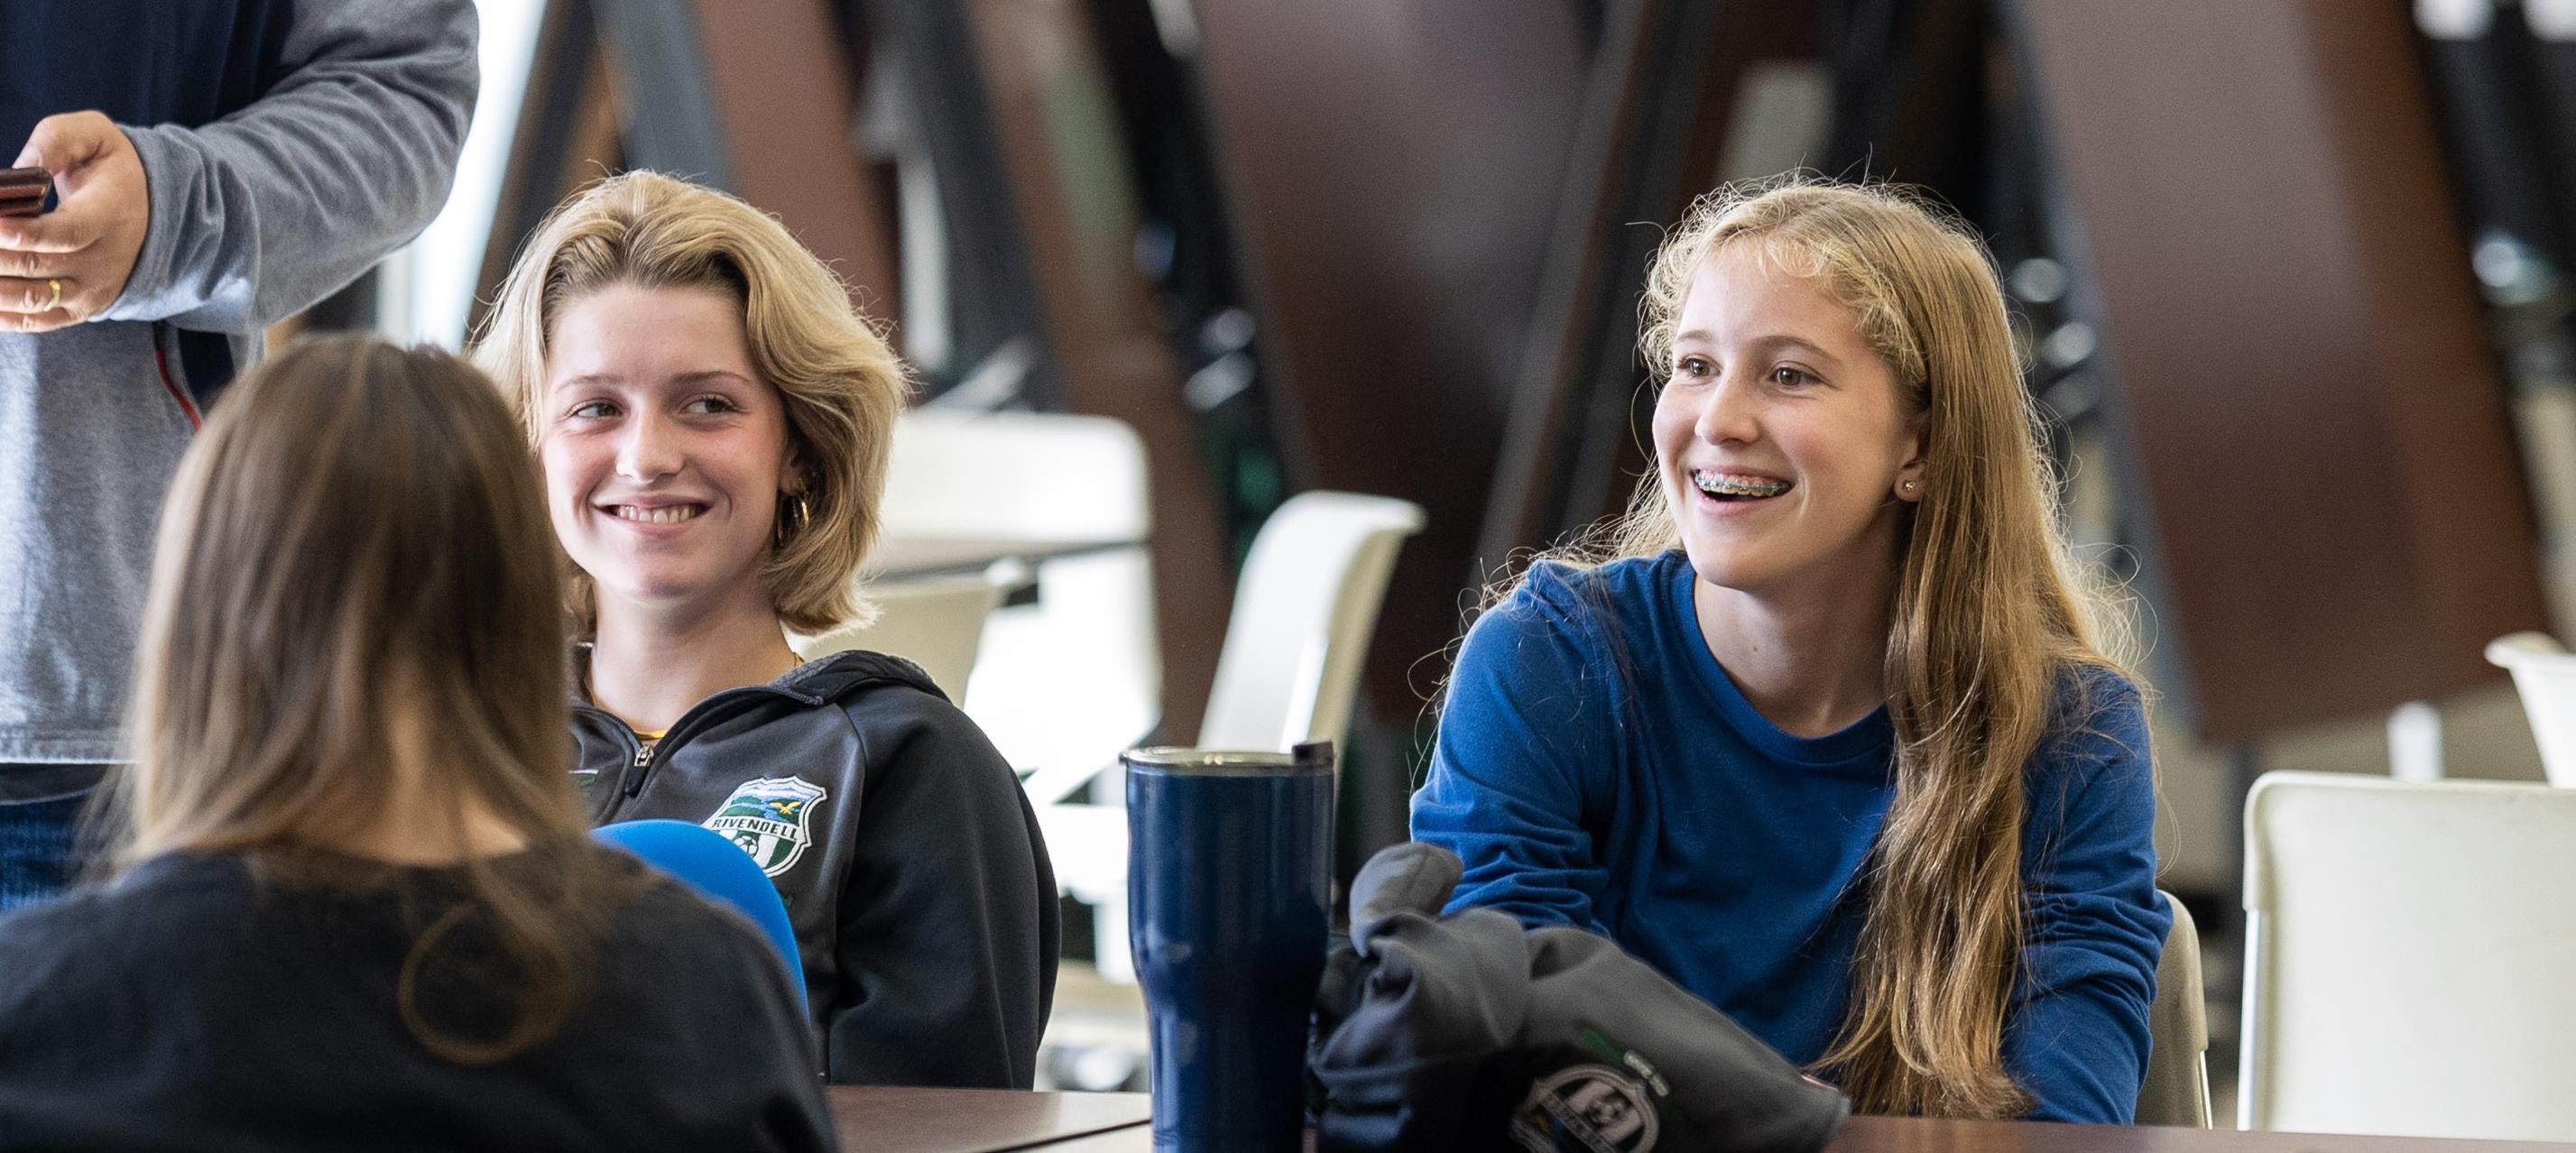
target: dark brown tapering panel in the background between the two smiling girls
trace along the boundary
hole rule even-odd
[[[1368,697],[1458,633],[1584,103],[1556,0],[1198,0],[1200,77],[1296,489],[1419,502]]]

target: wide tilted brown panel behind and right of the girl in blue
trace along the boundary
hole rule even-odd
[[[2491,679],[2537,553],[2409,8],[2012,8],[2202,733]]]

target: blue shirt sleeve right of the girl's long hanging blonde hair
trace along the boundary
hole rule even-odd
[[[2156,896],[2146,708],[2115,674],[2079,682],[2089,708],[2040,746],[2027,777],[2027,937],[2004,1068],[2038,1099],[2032,1120],[2128,1125],[2174,914]]]

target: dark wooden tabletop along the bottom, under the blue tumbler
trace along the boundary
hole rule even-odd
[[[997,1089],[832,1089],[845,1150],[1146,1153],[1144,1094],[1012,1094]],[[2576,1153],[2522,1140],[2336,1138],[2308,1132],[2133,1130],[2123,1125],[1924,1122],[1852,1117],[1826,1153]]]

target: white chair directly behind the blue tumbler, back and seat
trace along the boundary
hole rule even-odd
[[[1234,589],[1200,749],[1285,752],[1350,739],[1368,636],[1386,579],[1422,510],[1394,497],[1306,492],[1262,522]],[[1108,764],[1048,767],[1028,780],[1056,860],[1056,883],[1092,906],[1108,981],[1136,981],[1126,942],[1126,808],[1072,803]]]

